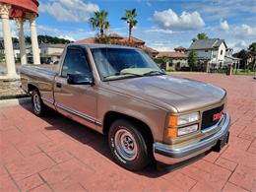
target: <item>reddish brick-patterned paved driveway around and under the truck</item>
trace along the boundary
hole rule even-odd
[[[55,113],[37,118],[30,105],[0,106],[0,191],[255,191],[256,81],[176,75],[227,90],[232,125],[222,154],[130,172],[111,160],[100,134]]]

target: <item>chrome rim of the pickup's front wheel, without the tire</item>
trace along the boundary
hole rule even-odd
[[[114,144],[116,150],[124,160],[135,160],[138,155],[136,140],[126,129],[120,129],[115,133]]]

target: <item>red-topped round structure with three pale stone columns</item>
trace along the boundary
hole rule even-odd
[[[38,6],[39,3],[37,0],[0,0],[0,15],[2,19],[7,77],[17,77],[10,20],[15,20],[18,25],[22,65],[27,63],[26,44],[24,37],[24,23],[27,20],[29,20],[32,37],[33,63],[40,64],[39,48],[35,25],[35,19],[38,15]]]

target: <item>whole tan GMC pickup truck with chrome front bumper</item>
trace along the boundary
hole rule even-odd
[[[107,135],[113,159],[130,170],[219,152],[228,142],[226,92],[166,75],[138,48],[69,44],[55,69],[26,65],[21,80],[35,115],[51,107]]]

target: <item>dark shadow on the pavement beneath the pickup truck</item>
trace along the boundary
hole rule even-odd
[[[32,112],[32,106],[29,103],[21,104],[25,109]],[[47,115],[45,117],[41,117],[44,121],[46,121],[50,126],[44,127],[43,129],[46,131],[55,131],[59,130],[64,135],[71,137],[73,140],[80,142],[80,144],[87,145],[92,149],[96,150],[97,153],[104,156],[109,160],[113,160],[111,157],[111,152],[108,148],[107,137],[97,133],[95,130],[88,128],[80,123],[65,117],[58,112],[49,109]],[[204,158],[205,155],[200,155],[190,160],[185,160],[183,162],[179,162],[173,165],[162,164],[160,162],[153,161],[146,168],[140,171],[135,171],[137,174],[141,174],[144,176],[156,178],[164,175],[166,173],[172,172],[174,170],[180,169],[186,165],[193,163],[196,160],[200,160]],[[119,166],[116,164],[116,166]]]

